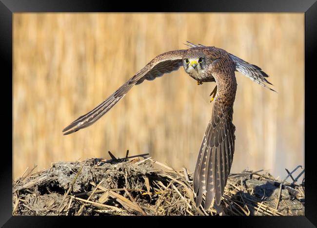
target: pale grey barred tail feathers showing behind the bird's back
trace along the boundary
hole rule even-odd
[[[185,43],[185,45],[187,45],[190,48],[194,48],[194,47],[206,47],[202,44],[193,44],[189,41],[187,41],[187,43]],[[243,59],[236,57],[232,54],[230,54],[230,57],[232,58],[232,60],[235,62],[236,64],[236,71],[242,73],[243,75],[247,76],[248,78],[250,78],[252,81],[257,82],[259,85],[272,90],[274,92],[276,92],[275,90],[271,89],[270,87],[268,87],[267,85],[265,85],[264,83],[268,83],[270,85],[273,85],[271,82],[269,82],[266,77],[268,77],[268,75],[262,71],[261,68],[259,68],[258,66],[254,65],[254,64],[250,64],[246,61],[244,61]]]

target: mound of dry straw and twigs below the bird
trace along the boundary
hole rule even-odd
[[[112,157],[24,173],[13,183],[13,215],[217,215],[196,208],[193,173],[186,169],[144,156]],[[303,185],[260,172],[230,174],[221,200],[225,214],[304,215]]]

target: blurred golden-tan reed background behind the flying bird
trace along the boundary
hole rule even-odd
[[[198,86],[182,68],[135,86],[93,126],[61,132],[186,40],[260,66],[278,92],[236,73],[231,171],[284,178],[304,165],[304,14],[14,14],[13,178],[127,149],[193,171],[215,84]]]

